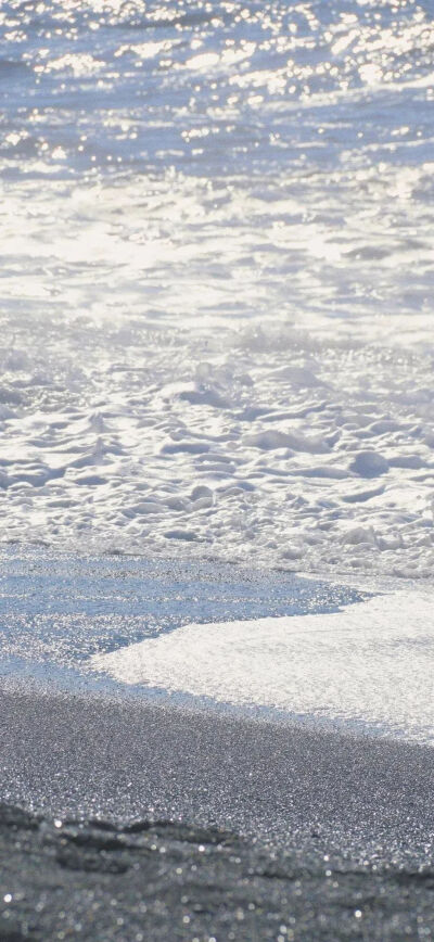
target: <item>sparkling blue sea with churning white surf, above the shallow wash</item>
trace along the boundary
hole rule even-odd
[[[5,0],[2,540],[430,581],[431,0]]]

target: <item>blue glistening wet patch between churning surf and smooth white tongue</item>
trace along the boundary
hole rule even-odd
[[[1,553],[0,672],[86,672],[89,658],[191,622],[337,611],[363,595],[215,563],[47,551]],[[27,665],[27,666],[26,666]]]

